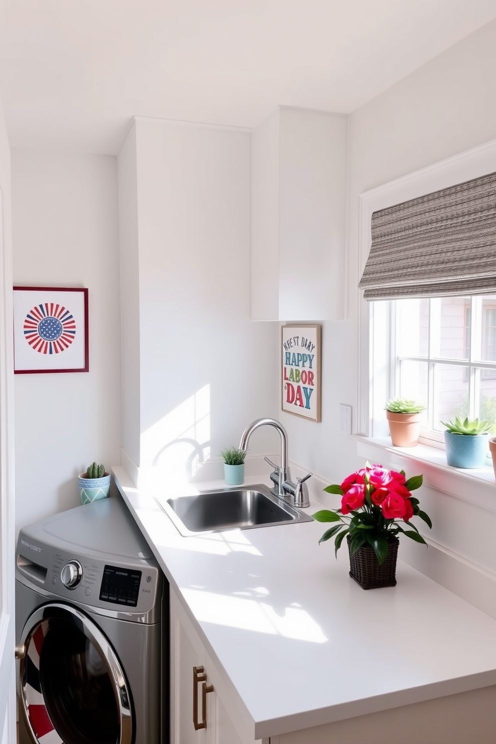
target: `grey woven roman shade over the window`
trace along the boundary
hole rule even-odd
[[[496,173],[372,215],[367,300],[496,292]]]

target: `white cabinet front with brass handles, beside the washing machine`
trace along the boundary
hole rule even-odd
[[[246,730],[213,661],[170,591],[172,744],[268,744]]]

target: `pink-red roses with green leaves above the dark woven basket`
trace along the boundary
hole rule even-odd
[[[350,534],[350,551],[354,554],[362,545],[371,545],[379,563],[387,557],[387,544],[403,533],[416,542],[427,543],[410,522],[418,516],[428,527],[431,519],[419,508],[419,499],[411,494],[422,486],[422,475],[408,480],[405,471],[388,470],[381,465],[370,465],[353,472],[341,484],[324,488],[327,493],[341,496],[341,509],[323,509],[313,514],[317,522],[338,522],[323,533],[319,542],[335,537],[335,553],[344,536]]]

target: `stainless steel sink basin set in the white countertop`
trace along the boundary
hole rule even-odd
[[[273,496],[262,484],[156,501],[184,536],[312,522],[311,516]]]

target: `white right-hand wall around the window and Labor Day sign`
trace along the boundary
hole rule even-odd
[[[281,414],[292,459],[328,482],[361,464],[339,434],[358,402],[358,195],[496,138],[496,23],[463,39],[349,118],[347,320],[323,324],[322,423]]]

